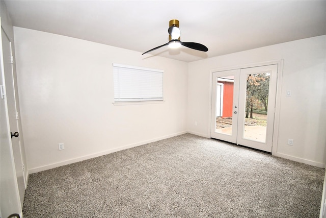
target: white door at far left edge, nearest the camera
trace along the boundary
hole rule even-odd
[[[1,51],[1,45],[0,45]],[[1,52],[0,52],[1,54]],[[2,59],[0,55],[0,59]],[[2,61],[1,61],[2,62]],[[9,115],[7,98],[5,94],[4,67],[1,63],[0,77],[0,208],[1,217],[8,217],[10,214],[22,214],[15,163],[10,137]]]

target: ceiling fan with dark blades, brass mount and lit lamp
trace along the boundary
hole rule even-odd
[[[207,52],[208,49],[205,45],[197,43],[197,42],[182,42],[180,41],[180,29],[179,29],[179,20],[173,19],[170,20],[169,22],[169,42],[162,44],[160,46],[154,47],[154,49],[148,50],[147,52],[144,52],[142,55],[149,53],[151,51],[154,51],[156,49],[159,49],[160,47],[169,45],[169,47],[171,48],[177,48],[180,47],[181,45],[189,47],[190,49],[195,49],[195,50],[199,50],[202,52]]]

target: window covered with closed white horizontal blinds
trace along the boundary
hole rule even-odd
[[[113,64],[114,101],[163,100],[163,70]]]

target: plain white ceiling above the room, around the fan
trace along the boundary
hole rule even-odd
[[[208,47],[161,47],[152,55],[191,62],[326,35],[326,1],[5,1],[14,26],[146,52],[169,41]],[[140,54],[141,55],[141,54]]]

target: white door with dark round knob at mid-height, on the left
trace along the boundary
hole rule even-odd
[[[25,193],[25,175],[21,153],[21,144],[19,138],[18,128],[18,113],[16,107],[16,95],[13,78],[13,61],[11,52],[11,42],[7,37],[6,33],[2,29],[2,45],[3,45],[3,61],[4,61],[4,74],[5,74],[5,87],[7,96],[7,107],[9,115],[9,127],[10,131],[14,136],[11,137],[12,151],[15,162],[15,171],[19,188],[19,196],[21,206],[24,200]]]

